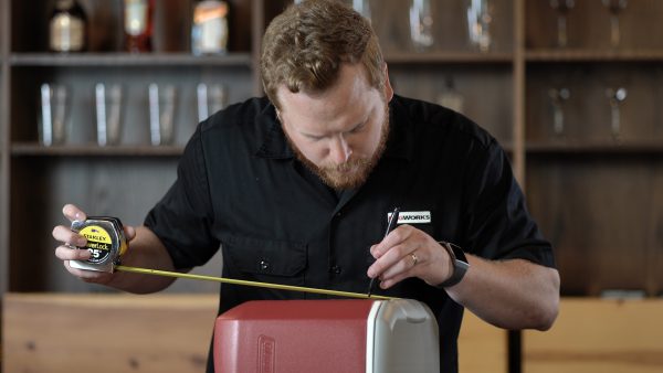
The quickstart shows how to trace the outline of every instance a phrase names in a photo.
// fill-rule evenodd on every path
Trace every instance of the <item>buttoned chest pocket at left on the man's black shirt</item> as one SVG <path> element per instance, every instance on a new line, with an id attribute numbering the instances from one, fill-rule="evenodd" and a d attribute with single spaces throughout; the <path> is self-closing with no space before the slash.
<path id="1" fill-rule="evenodd" d="M 228 237 L 223 244 L 225 265 L 231 266 L 230 270 L 255 280 L 270 280 L 273 277 L 303 279 L 306 247 L 303 243 L 239 235 Z"/>

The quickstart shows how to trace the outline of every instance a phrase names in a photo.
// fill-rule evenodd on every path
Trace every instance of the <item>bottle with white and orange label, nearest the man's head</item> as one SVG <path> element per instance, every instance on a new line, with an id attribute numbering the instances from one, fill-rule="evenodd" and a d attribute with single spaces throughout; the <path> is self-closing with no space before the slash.
<path id="1" fill-rule="evenodd" d="M 196 55 L 228 51 L 228 2 L 202 0 L 193 8 L 191 52 Z"/>

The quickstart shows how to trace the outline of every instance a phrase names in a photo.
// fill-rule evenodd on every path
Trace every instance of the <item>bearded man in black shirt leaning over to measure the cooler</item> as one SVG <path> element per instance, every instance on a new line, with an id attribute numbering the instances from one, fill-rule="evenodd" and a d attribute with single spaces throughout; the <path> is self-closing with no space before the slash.
<path id="1" fill-rule="evenodd" d="M 394 95 L 370 24 L 337 1 L 288 8 L 263 43 L 269 98 L 200 124 L 178 180 L 144 226 L 127 227 L 124 264 L 186 271 L 221 245 L 224 277 L 357 292 L 377 278 L 376 292 L 432 309 L 449 372 L 457 371 L 464 308 L 502 328 L 550 328 L 559 300 L 552 249 L 488 134 Z M 382 239 L 397 206 L 399 225 Z M 85 217 L 73 205 L 64 215 Z M 85 243 L 66 226 L 53 236 Z M 67 245 L 55 254 L 74 276 L 126 291 L 172 281 L 72 268 L 69 260 L 90 254 Z M 223 286 L 219 311 L 294 298 L 320 296 Z"/>

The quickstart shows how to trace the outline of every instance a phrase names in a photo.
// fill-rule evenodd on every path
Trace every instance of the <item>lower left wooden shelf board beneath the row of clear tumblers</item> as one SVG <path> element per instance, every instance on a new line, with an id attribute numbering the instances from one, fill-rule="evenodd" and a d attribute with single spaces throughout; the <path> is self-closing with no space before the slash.
<path id="1" fill-rule="evenodd" d="M 51 146 L 44 147 L 34 142 L 13 143 L 12 157 L 179 157 L 181 146 L 108 146 L 96 145 Z"/>

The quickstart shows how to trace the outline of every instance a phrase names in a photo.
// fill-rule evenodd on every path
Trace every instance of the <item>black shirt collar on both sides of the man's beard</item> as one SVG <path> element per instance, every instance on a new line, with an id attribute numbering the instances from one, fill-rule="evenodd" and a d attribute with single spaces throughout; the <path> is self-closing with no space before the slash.
<path id="1" fill-rule="evenodd" d="M 295 157 L 283 132 L 281 122 L 276 119 L 274 105 L 266 105 L 256 119 L 265 128 L 263 136 L 257 140 L 260 145 L 255 152 L 257 157 L 266 159 L 291 159 Z M 391 130 L 382 157 L 412 160 L 414 154 L 414 136 L 412 131 L 414 126 L 410 122 L 407 109 L 402 106 L 399 96 L 396 95 L 389 103 L 389 124 Z"/>

